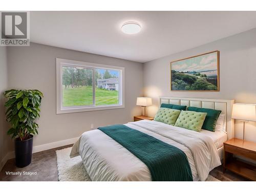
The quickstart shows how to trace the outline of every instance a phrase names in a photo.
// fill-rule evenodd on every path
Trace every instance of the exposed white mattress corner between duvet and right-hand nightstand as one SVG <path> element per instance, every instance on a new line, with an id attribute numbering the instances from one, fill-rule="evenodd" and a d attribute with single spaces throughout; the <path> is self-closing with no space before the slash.
<path id="1" fill-rule="evenodd" d="M 201 134 L 210 137 L 216 146 L 217 149 L 223 146 L 223 143 L 227 140 L 226 132 L 210 132 L 207 130 L 201 130 Z"/>

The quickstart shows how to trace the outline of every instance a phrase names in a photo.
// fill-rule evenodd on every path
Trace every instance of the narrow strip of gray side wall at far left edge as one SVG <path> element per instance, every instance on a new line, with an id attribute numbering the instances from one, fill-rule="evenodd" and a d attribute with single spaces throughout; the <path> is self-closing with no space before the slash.
<path id="1" fill-rule="evenodd" d="M 2 166 L 1 160 L 9 151 L 10 138 L 6 135 L 7 123 L 5 118 L 5 98 L 4 91 L 8 88 L 7 77 L 7 48 L 0 47 L 0 169 Z"/>

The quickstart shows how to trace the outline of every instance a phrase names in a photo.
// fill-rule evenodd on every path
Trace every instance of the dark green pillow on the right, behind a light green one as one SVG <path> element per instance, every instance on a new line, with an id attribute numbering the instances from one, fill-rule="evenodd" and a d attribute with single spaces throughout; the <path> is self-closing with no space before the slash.
<path id="1" fill-rule="evenodd" d="M 217 123 L 217 119 L 221 113 L 220 110 L 213 110 L 213 109 L 207 109 L 207 108 L 196 108 L 195 106 L 189 106 L 187 108 L 187 111 L 196 111 L 196 112 L 202 112 L 207 113 L 204 124 L 202 126 L 202 129 L 208 130 L 211 132 L 215 132 L 215 126 Z"/>

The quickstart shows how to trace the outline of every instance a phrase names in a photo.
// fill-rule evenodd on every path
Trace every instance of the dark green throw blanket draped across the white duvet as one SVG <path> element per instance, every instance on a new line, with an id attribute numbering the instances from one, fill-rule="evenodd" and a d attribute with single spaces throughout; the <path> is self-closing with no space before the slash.
<path id="1" fill-rule="evenodd" d="M 145 163 L 152 181 L 193 181 L 187 157 L 179 148 L 122 124 L 98 129 Z"/>

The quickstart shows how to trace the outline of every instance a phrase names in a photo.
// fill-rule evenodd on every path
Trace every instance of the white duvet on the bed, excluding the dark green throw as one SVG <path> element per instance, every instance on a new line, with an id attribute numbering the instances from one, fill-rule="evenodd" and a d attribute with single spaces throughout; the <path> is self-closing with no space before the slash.
<path id="1" fill-rule="evenodd" d="M 199 132 L 150 120 L 124 125 L 182 150 L 187 156 L 194 181 L 205 181 L 210 170 L 221 165 L 214 141 Z M 70 157 L 77 155 L 81 156 L 92 181 L 152 180 L 150 170 L 140 159 L 100 130 L 81 135 Z"/>

